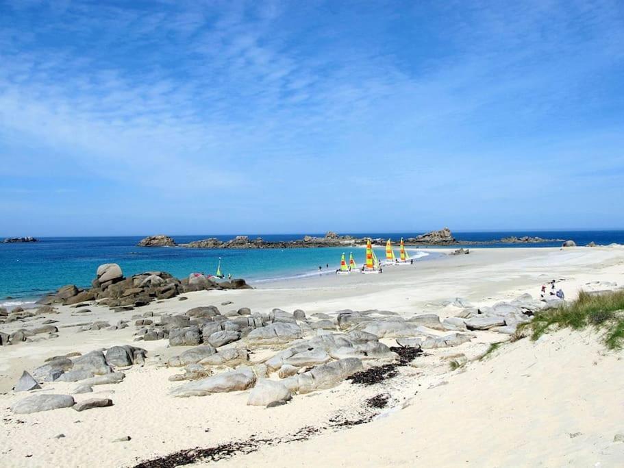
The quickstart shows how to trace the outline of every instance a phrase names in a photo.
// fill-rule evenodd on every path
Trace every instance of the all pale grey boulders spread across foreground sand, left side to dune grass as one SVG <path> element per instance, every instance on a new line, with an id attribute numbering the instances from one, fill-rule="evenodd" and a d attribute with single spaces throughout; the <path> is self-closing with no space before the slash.
<path id="1" fill-rule="evenodd" d="M 216 306 L 192 308 L 184 315 L 160 315 L 158 323 L 151 312 L 134 319 L 137 339 L 168 338 L 171 346 L 190 347 L 167 361 L 169 367 L 183 371 L 169 380 L 186 381 L 171 390 L 172 396 L 250 390 L 247 404 L 271 407 L 293 395 L 330 389 L 365 369 L 400 361 L 397 348 L 391 349 L 382 338 L 394 338 L 401 347 L 414 349 L 460 346 L 471 341 L 475 331 L 513 334 L 537 310 L 560 304 L 564 304 L 562 299 L 536 300 L 528 294 L 478 308 L 455 299 L 447 305 L 462 310 L 443 320 L 435 314 L 405 319 L 388 310 L 340 310 L 308 317 L 303 310 L 290 313 L 275 308 L 262 314 L 249 308 L 221 312 Z M 266 347 L 277 350 L 252 362 L 251 349 Z M 45 382 L 60 381 L 78 382 L 74 394 L 90 392 L 94 385 L 121 382 L 124 374 L 118 368 L 142 365 L 146 354 L 142 348 L 114 346 L 84 356 L 55 356 L 32 375 L 25 372 L 14 391 L 34 391 Z M 14 404 L 12 410 L 23 413 L 70 406 L 82 410 L 110 404 L 88 400 L 77 406 L 71 395 L 33 395 Z"/>

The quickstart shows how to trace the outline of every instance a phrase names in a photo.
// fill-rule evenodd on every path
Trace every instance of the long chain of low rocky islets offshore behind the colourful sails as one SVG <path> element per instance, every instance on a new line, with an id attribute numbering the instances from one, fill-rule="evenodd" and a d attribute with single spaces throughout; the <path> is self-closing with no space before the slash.
<path id="1" fill-rule="evenodd" d="M 373 245 L 385 245 L 386 238 L 369 238 L 341 236 L 336 232 L 329 231 L 323 237 L 303 236 L 295 241 L 264 241 L 262 237 L 255 239 L 249 236 L 236 236 L 229 241 L 221 241 L 216 237 L 192 241 L 190 243 L 178 244 L 171 236 L 158 234 L 147 236 L 137 244 L 139 247 L 186 247 L 188 249 L 297 249 L 308 247 L 357 247 L 365 245 L 366 241 L 371 241 Z M 393 239 L 398 241 L 398 239 Z M 404 239 L 405 245 L 490 245 L 497 243 L 508 244 L 532 244 L 545 242 L 562 242 L 564 239 L 547 239 L 531 236 L 509 236 L 492 241 L 461 241 L 453 236 L 448 227 L 438 231 L 427 232 L 415 237 Z"/>

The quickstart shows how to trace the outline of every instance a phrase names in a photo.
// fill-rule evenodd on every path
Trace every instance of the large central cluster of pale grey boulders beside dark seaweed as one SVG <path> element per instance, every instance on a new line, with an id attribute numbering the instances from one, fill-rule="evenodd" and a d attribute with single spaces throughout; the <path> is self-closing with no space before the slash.
<path id="1" fill-rule="evenodd" d="M 184 368 L 184 373 L 173 375 L 170 380 L 192 380 L 173 389 L 171 394 L 175 397 L 251 389 L 247 404 L 275 406 L 297 393 L 332 388 L 367 367 L 397 361 L 399 356 L 381 343 L 380 338 L 397 338 L 403 346 L 433 349 L 457 346 L 474 336 L 457 332 L 455 327 L 450 334 L 432 333 L 432 328 L 447 330 L 437 315 L 416 315 L 406 320 L 386 310 L 340 310 L 332 319 L 323 313 L 306 317 L 303 310 L 289 313 L 273 309 L 266 315 L 255 312 L 248 315 L 247 309 L 242 315 L 232 311 L 220 318 L 220 315 L 213 315 L 215 309 L 209 306 L 186 312 L 187 317 L 203 315 L 212 321 L 197 323 L 192 329 L 190 325 L 180 332 L 185 339 L 192 337 L 193 343 L 199 342 L 199 334 L 205 344 L 169 360 L 170 367 Z M 249 325 L 252 320 L 253 325 Z M 239 328 L 239 324 L 244 326 Z M 226 342 L 221 341 L 225 336 L 223 332 L 229 328 L 238 328 L 236 335 L 231 334 Z M 316 336 L 304 339 L 306 334 Z M 242 346 L 234 343 L 238 340 Z M 286 349 L 269 358 L 249 362 L 249 348 L 281 347 L 288 343 Z M 235 369 L 211 375 L 215 369 L 223 367 Z M 279 380 L 275 380 L 275 376 Z"/>

